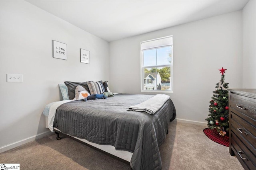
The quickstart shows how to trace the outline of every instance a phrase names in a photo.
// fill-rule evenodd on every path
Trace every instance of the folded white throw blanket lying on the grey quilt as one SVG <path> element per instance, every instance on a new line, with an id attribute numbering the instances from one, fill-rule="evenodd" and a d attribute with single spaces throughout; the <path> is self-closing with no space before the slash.
<path id="1" fill-rule="evenodd" d="M 156 113 L 156 111 L 158 111 L 169 98 L 170 96 L 166 94 L 157 94 L 145 102 L 131 106 L 128 109 L 132 111 L 145 111 L 152 115 Z"/>

